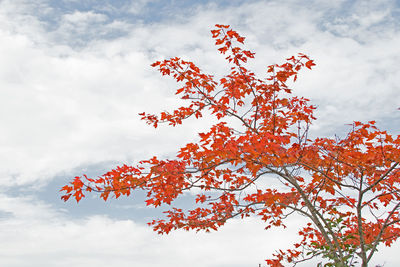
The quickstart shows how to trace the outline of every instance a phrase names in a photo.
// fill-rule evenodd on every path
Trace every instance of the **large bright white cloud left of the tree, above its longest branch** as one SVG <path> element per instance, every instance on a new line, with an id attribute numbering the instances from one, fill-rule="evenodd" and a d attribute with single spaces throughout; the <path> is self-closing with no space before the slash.
<path id="1" fill-rule="evenodd" d="M 171 153 L 182 140 L 182 127 L 157 133 L 137 114 L 176 105 L 168 91 L 175 83 L 161 79 L 149 66 L 155 57 L 180 50 L 172 42 L 176 36 L 189 34 L 183 27 L 177 27 L 172 37 L 164 27 L 137 27 L 125 38 L 95 40 L 74 51 L 53 43 L 53 33 L 36 36 L 50 38 L 36 42 L 3 31 L 0 46 L 9 63 L 0 66 L 0 117 L 6 125 L 0 139 L 5 163 L 1 183 L 29 184 L 85 164 Z M 191 36 L 200 39 L 195 32 Z M 150 140 L 155 134 L 168 135 L 172 141 L 161 146 Z"/>

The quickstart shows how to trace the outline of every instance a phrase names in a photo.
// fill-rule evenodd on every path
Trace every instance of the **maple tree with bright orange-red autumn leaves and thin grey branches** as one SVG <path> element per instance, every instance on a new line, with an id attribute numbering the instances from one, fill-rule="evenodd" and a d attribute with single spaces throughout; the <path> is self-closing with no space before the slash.
<path id="1" fill-rule="evenodd" d="M 241 48 L 244 37 L 230 26 L 211 31 L 232 66 L 218 81 L 180 58 L 157 61 L 162 75 L 183 84 L 176 94 L 188 102 L 160 115 L 141 113 L 148 124 L 182 124 L 203 114 L 217 119 L 198 141 L 175 159 L 153 157 L 137 166 L 122 165 L 97 178 L 75 177 L 62 199 L 77 202 L 86 192 L 105 201 L 147 192 L 146 204 L 172 204 L 195 190 L 191 210 L 172 207 L 149 223 L 160 234 L 174 229 L 217 230 L 231 218 L 259 216 L 285 227 L 292 213 L 307 220 L 292 249 L 277 251 L 270 266 L 321 257 L 325 266 L 367 266 L 377 246 L 399 237 L 400 136 L 379 130 L 374 121 L 355 121 L 344 138 L 310 138 L 315 107 L 294 96 L 289 83 L 315 64 L 298 54 L 267 67 L 259 79 L 245 67 L 254 53 Z"/>

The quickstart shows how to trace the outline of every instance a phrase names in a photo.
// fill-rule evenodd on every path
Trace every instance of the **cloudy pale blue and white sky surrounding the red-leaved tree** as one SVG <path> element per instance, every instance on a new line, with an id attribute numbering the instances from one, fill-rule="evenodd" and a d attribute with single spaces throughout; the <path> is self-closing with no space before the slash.
<path id="1" fill-rule="evenodd" d="M 60 200 L 74 176 L 173 156 L 207 127 L 155 130 L 138 113 L 180 103 L 156 60 L 228 71 L 215 24 L 246 37 L 260 77 L 298 52 L 315 60 L 295 84 L 318 106 L 313 135 L 343 134 L 355 120 L 399 134 L 398 1 L 0 0 L 0 266 L 258 266 L 296 240 L 296 217 L 287 230 L 249 218 L 159 236 L 146 222 L 162 209 L 146 208 L 143 192 Z M 380 248 L 373 263 L 400 266 L 399 249 Z"/>

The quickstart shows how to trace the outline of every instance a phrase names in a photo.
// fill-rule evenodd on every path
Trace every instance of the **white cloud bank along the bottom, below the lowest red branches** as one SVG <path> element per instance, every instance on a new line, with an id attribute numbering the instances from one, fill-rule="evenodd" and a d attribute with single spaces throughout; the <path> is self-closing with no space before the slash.
<path id="1" fill-rule="evenodd" d="M 271 240 L 271 233 L 263 232 L 263 224 L 255 219 L 245 224 L 233 220 L 209 234 L 176 231 L 160 236 L 130 220 L 69 220 L 32 198 L 1 195 L 0 203 L 0 211 L 12 213 L 0 220 L 0 264 L 9 267 L 28 262 L 42 267 L 256 266 L 291 239 L 276 239 L 283 233 L 278 230 L 271 231 Z"/>

